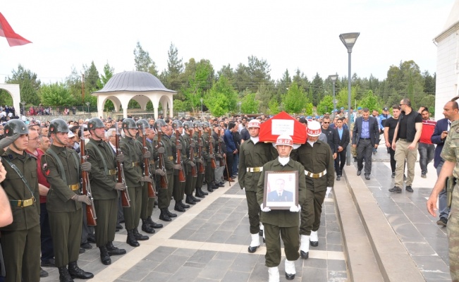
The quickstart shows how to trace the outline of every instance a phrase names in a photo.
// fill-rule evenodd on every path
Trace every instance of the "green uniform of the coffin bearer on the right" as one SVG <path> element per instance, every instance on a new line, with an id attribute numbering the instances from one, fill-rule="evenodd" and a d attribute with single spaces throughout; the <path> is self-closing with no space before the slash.
<path id="1" fill-rule="evenodd" d="M 333 154 L 330 146 L 317 140 L 314 147 L 306 142 L 298 149 L 293 150 L 292 158 L 298 160 L 305 171 L 310 173 L 322 173 L 326 175 L 319 178 L 306 177 L 307 201 L 301 209 L 301 235 L 310 235 L 311 231 L 319 230 L 320 215 L 322 214 L 322 204 L 325 198 L 327 187 L 333 187 L 335 168 L 333 167 Z"/>

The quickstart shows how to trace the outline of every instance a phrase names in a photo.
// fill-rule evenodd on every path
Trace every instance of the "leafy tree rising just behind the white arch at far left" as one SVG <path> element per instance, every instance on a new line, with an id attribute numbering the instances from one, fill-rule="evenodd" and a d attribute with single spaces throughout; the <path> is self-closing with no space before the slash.
<path id="1" fill-rule="evenodd" d="M 6 83 L 18 84 L 20 89 L 20 100 L 38 106 L 40 104 L 39 87 L 40 80 L 37 79 L 37 73 L 26 70 L 19 64 L 18 71 L 13 70 L 11 78 L 8 76 Z"/>

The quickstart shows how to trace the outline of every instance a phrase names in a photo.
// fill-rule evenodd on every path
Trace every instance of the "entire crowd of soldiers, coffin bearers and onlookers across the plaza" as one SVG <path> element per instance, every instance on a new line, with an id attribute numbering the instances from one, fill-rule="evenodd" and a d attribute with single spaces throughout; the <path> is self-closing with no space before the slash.
<path id="1" fill-rule="evenodd" d="M 186 212 L 238 177 L 250 223 L 247 251 L 257 252 L 261 237 L 269 281 L 279 281 L 281 237 L 285 276 L 291 280 L 295 260 L 308 259 L 310 247 L 319 245 L 322 204 L 343 176 L 349 144 L 357 175 L 363 170 L 369 180 L 372 154 L 384 135 L 395 178 L 391 192 L 402 192 L 403 184 L 413 192 L 417 149 L 422 178 L 432 159 L 437 173 L 443 164 L 451 168 L 448 161 L 453 159 L 440 153 L 459 119 L 457 102 L 448 102 L 444 121 L 437 122 L 425 107 L 413 111 L 409 99 L 391 109 L 392 115 L 388 108 L 370 115 L 369 109 L 358 107 L 357 112 L 296 117 L 305 126 L 304 144 L 294 144 L 290 135 L 260 142 L 267 116 L 1 123 L 0 243 L 8 258 L 1 261 L 1 276 L 5 281 L 39 281 L 47 276 L 42 266 L 51 266 L 59 269 L 60 281 L 92 278 L 78 266 L 78 255 L 91 249 L 91 243 L 99 248 L 102 264 L 109 265 L 111 256 L 126 254 L 114 245 L 116 232 L 126 228 L 126 243 L 139 247 L 149 240 L 139 226 L 148 234 L 163 227 L 152 219 L 154 207 L 160 210 L 157 220 L 172 221 L 176 212 Z M 298 182 L 291 188 L 276 178 L 267 190 L 267 171 L 294 171 Z M 437 223 L 446 226 L 450 210 L 446 192 L 441 193 Z M 275 208 L 283 202 L 288 207 Z"/>

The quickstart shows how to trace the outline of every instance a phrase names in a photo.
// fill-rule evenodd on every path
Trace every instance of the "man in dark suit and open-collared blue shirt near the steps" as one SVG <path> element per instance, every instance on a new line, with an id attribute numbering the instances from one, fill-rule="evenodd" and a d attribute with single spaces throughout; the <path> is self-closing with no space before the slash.
<path id="1" fill-rule="evenodd" d="M 360 176 L 365 159 L 365 179 L 372 173 L 372 152 L 378 147 L 379 125 L 376 118 L 369 116 L 369 109 L 364 108 L 362 116 L 357 118 L 353 129 L 353 147 L 357 148 L 357 176 Z"/>

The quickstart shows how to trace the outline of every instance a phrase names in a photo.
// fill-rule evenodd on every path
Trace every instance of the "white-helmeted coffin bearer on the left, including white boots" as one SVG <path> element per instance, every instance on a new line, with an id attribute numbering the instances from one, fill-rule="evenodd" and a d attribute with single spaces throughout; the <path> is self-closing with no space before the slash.
<path id="1" fill-rule="evenodd" d="M 257 202 L 257 185 L 262 176 L 263 165 L 276 159 L 276 149 L 270 143 L 259 142 L 259 121 L 254 119 L 247 128 L 250 139 L 240 145 L 239 152 L 239 185 L 245 191 L 250 222 L 249 252 L 255 252 L 259 247 L 259 235 L 263 235 L 259 222 L 259 204 Z"/>

